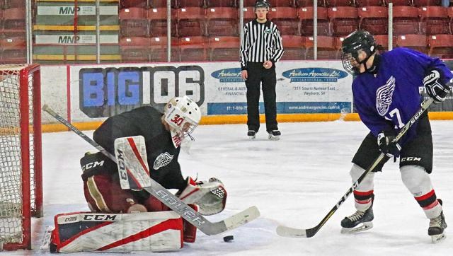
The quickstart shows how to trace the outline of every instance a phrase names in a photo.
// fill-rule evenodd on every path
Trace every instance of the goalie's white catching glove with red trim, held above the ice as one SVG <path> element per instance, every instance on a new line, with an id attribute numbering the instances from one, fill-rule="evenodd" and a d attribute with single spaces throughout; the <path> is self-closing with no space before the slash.
<path id="1" fill-rule="evenodd" d="M 217 178 L 208 181 L 196 182 L 188 177 L 188 184 L 184 190 L 176 193 L 186 204 L 197 204 L 202 215 L 213 215 L 225 209 L 226 190 L 224 184 Z"/>

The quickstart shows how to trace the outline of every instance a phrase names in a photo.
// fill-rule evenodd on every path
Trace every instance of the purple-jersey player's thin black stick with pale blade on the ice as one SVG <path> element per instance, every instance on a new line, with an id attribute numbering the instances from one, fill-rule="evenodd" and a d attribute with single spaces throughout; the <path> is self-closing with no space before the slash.
<path id="1" fill-rule="evenodd" d="M 423 112 L 425 112 L 425 110 L 428 109 L 428 107 L 431 105 L 432 101 L 433 101 L 432 98 L 429 98 L 428 100 L 423 101 L 423 103 L 421 104 L 420 110 L 418 110 L 418 112 L 416 112 L 415 115 L 413 115 L 411 120 L 409 120 L 404 125 L 404 127 L 401 129 L 401 131 L 398 133 L 398 135 L 395 137 L 395 139 L 392 142 L 398 141 L 399 139 L 401 139 L 401 137 L 404 134 L 406 134 L 406 132 L 412 126 L 412 124 L 414 124 L 418 120 L 418 118 L 420 118 L 420 116 L 423 114 Z M 337 209 L 340 208 L 340 205 L 346 201 L 346 199 L 349 197 L 349 195 L 352 194 L 354 189 L 360 184 L 360 182 L 362 182 L 362 180 L 365 178 L 365 176 L 369 172 L 374 170 L 374 168 L 376 168 L 376 166 L 382 161 L 382 159 L 384 159 L 384 156 L 385 156 L 384 153 L 379 154 L 379 156 L 376 158 L 376 160 L 374 160 L 374 163 L 372 163 L 372 165 L 369 166 L 369 168 L 367 170 L 365 170 L 365 172 L 362 173 L 362 175 L 360 175 L 360 177 L 357 179 L 357 181 L 355 181 L 352 184 L 352 187 L 349 188 L 348 192 L 346 192 L 346 194 L 343 194 L 343 197 L 341 197 L 340 201 L 338 201 L 337 204 L 335 206 L 333 206 L 331 211 L 328 212 L 328 214 L 324 217 L 324 219 L 321 220 L 321 222 L 317 226 L 315 226 L 314 228 L 308 228 L 308 229 L 290 228 L 287 226 L 277 226 L 277 234 L 281 235 L 281 236 L 285 236 L 287 238 L 311 238 L 312 236 L 316 235 L 316 233 L 318 233 L 319 229 L 321 229 L 321 227 L 324 226 L 324 224 L 328 221 L 328 219 L 331 218 L 331 216 L 337 211 Z"/>

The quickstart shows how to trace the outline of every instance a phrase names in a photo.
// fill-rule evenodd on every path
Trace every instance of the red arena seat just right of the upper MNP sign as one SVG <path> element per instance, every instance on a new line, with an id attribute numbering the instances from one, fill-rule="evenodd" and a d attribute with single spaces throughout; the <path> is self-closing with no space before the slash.
<path id="1" fill-rule="evenodd" d="M 120 9 L 120 30 L 125 37 L 146 37 L 149 35 L 147 9 L 125 8 Z"/>

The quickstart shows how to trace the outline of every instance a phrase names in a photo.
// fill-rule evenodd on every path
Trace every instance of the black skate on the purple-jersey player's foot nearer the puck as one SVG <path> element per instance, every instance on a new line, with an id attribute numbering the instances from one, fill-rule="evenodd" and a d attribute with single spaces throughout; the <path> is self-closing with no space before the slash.
<path id="1" fill-rule="evenodd" d="M 373 227 L 371 222 L 374 219 L 373 215 L 373 203 L 374 203 L 374 194 L 371 198 L 371 206 L 366 211 L 355 211 L 355 214 L 345 217 L 341 221 L 341 233 L 357 233 L 361 231 L 367 231 Z M 361 224 L 361 225 L 360 225 Z"/>

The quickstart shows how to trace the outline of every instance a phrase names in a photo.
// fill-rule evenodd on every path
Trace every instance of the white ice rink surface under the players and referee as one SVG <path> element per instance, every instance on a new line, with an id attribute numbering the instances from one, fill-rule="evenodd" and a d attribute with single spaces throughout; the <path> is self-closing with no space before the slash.
<path id="1" fill-rule="evenodd" d="M 453 255 L 453 122 L 432 122 L 431 179 L 450 225 L 447 239 L 437 244 L 431 243 L 429 220 L 393 162 L 375 176 L 371 230 L 340 234 L 341 219 L 355 211 L 350 196 L 313 238 L 279 237 L 278 223 L 311 228 L 338 202 L 351 186 L 350 160 L 367 134 L 361 122 L 342 121 L 282 123 L 280 130 L 280 141 L 269 141 L 264 125 L 255 141 L 246 137 L 245 124 L 203 125 L 195 130 L 190 154 L 180 153 L 183 175 L 198 175 L 199 180 L 217 177 L 228 191 L 225 211 L 208 219 L 224 219 L 252 205 L 258 206 L 261 217 L 222 235 L 210 237 L 199 231 L 196 243 L 159 255 Z M 33 221 L 35 249 L 13 255 L 50 255 L 38 248 L 45 227 L 53 226 L 53 216 L 88 210 L 79 159 L 96 150 L 72 132 L 42 136 L 45 216 Z M 224 235 L 234 235 L 234 241 L 224 243 Z"/>

